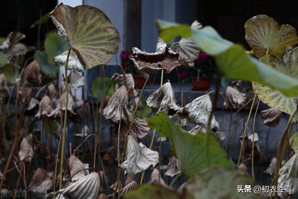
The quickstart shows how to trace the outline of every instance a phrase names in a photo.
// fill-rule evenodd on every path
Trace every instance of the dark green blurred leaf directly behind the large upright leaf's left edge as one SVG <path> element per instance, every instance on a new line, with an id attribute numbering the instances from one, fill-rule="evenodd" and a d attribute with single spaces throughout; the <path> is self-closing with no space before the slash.
<path id="1" fill-rule="evenodd" d="M 65 39 L 58 33 L 49 34 L 44 40 L 44 47 L 46 49 L 49 64 L 54 64 L 54 58 L 69 48 Z"/>

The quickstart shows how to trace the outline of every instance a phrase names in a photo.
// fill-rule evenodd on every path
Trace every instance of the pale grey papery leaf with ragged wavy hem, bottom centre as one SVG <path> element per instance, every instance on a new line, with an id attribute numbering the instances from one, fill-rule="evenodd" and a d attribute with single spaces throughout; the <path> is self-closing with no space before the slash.
<path id="1" fill-rule="evenodd" d="M 158 152 L 148 149 L 144 144 L 137 143 L 128 135 L 125 161 L 119 166 L 124 169 L 124 175 L 136 175 L 155 166 L 159 162 Z"/>

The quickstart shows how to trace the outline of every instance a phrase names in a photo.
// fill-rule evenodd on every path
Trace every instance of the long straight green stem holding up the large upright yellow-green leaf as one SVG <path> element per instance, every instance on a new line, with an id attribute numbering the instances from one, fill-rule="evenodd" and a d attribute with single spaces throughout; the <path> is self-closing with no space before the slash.
<path id="1" fill-rule="evenodd" d="M 69 59 L 71 48 L 69 47 L 68 54 L 65 62 L 65 84 L 66 84 L 66 99 L 65 99 L 65 112 L 64 112 L 64 127 L 63 127 L 63 137 L 62 137 L 62 146 L 61 146 L 61 160 L 60 160 L 60 182 L 59 189 L 62 189 L 62 170 L 63 170 L 63 156 L 64 156 L 64 143 L 65 143 L 65 134 L 66 134 L 66 120 L 67 120 L 67 108 L 68 108 L 68 80 L 67 80 L 67 64 Z M 61 107 L 60 107 L 61 108 Z"/>

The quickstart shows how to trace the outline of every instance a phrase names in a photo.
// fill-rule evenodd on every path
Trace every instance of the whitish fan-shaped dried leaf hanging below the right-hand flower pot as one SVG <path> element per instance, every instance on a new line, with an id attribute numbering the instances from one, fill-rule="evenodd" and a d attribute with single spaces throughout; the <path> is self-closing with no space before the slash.
<path id="1" fill-rule="evenodd" d="M 206 128 L 209 115 L 212 113 L 212 102 L 209 94 L 194 99 L 191 103 L 181 108 L 177 113 L 181 118 L 186 118 L 191 123 Z M 219 131 L 219 125 L 215 120 L 213 113 L 209 129 L 212 131 Z"/>

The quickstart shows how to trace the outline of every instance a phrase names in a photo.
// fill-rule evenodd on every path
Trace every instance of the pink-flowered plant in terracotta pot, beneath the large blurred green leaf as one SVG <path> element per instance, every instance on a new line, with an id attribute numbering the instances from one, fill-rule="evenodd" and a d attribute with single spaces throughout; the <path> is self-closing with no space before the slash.
<path id="1" fill-rule="evenodd" d="M 216 64 L 213 56 L 200 53 L 194 67 L 190 68 L 192 90 L 205 91 L 210 88 L 211 79 L 216 78 Z"/>

